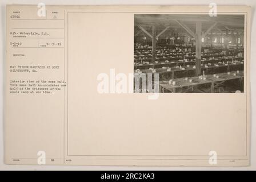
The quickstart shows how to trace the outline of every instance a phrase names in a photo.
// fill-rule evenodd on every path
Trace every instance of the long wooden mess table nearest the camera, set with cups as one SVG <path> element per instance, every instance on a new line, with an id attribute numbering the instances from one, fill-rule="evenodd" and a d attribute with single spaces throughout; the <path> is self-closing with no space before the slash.
<path id="1" fill-rule="evenodd" d="M 233 75 L 235 73 L 235 76 Z M 218 73 L 215 74 L 217 77 L 214 77 L 214 75 L 206 75 L 206 79 L 203 80 L 199 77 L 189 77 L 187 80 L 185 78 L 177 78 L 172 81 L 175 81 L 175 85 L 170 84 L 169 81 L 159 81 L 159 92 L 164 93 L 166 90 L 169 92 L 187 92 L 189 90 L 196 90 L 197 92 L 203 92 L 202 90 L 197 89 L 197 86 L 199 85 L 205 85 L 210 84 L 210 89 L 208 89 L 206 92 L 214 93 L 214 88 L 218 85 L 223 84 L 223 82 L 227 80 L 235 80 L 238 79 L 241 86 L 243 85 L 243 71 L 233 71 L 228 73 Z M 191 82 L 189 80 L 192 80 Z"/>

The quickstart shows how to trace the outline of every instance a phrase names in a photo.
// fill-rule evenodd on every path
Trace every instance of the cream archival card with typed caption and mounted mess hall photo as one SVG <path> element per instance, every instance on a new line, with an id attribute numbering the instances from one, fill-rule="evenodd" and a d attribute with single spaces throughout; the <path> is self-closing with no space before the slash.
<path id="1" fill-rule="evenodd" d="M 6 6 L 5 163 L 250 165 L 249 6 Z"/>

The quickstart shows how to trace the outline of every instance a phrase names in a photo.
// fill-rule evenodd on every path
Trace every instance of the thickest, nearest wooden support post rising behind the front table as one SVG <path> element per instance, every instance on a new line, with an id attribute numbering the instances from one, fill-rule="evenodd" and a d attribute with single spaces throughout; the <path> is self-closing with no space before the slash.
<path id="1" fill-rule="evenodd" d="M 202 22 L 195 23 L 195 76 L 201 75 Z"/>

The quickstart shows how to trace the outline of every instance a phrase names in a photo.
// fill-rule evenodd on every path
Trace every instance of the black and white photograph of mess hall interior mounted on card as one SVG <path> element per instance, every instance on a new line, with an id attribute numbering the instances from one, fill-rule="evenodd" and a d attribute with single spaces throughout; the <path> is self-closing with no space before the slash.
<path id="1" fill-rule="evenodd" d="M 134 92 L 243 93 L 244 31 L 239 14 L 135 14 Z"/>

